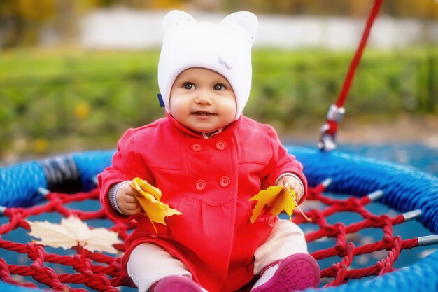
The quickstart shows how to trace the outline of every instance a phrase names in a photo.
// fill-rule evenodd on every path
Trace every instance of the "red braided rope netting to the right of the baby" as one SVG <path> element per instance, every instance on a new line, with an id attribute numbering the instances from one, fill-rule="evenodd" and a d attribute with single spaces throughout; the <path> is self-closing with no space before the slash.
<path id="1" fill-rule="evenodd" d="M 323 195 L 324 186 L 320 184 L 316 188 L 309 191 L 307 200 L 316 200 L 322 202 L 328 207 L 322 210 L 311 209 L 306 212 L 306 216 L 312 218 L 313 223 L 318 224 L 319 230 L 308 232 L 306 234 L 307 242 L 314 242 L 323 237 L 331 237 L 335 239 L 333 247 L 322 249 L 311 253 L 311 256 L 316 260 L 339 256 L 342 260 L 332 264 L 321 271 L 321 277 L 334 278 L 333 281 L 326 286 L 338 286 L 345 283 L 349 279 L 360 279 L 362 277 L 376 276 L 393 271 L 393 264 L 400 255 L 402 249 L 411 249 L 418 246 L 418 239 L 402 240 L 401 237 L 393 236 L 393 225 L 404 223 L 402 215 L 390 218 L 387 215 L 376 216 L 369 212 L 365 207 L 371 201 L 369 197 L 348 197 L 346 200 L 335 200 Z M 344 223 L 335 223 L 330 225 L 326 218 L 332 214 L 342 211 L 355 212 L 362 216 L 363 220 L 350 225 Z M 306 223 L 304 216 L 296 214 L 295 223 Z M 382 240 L 372 244 L 365 244 L 356 247 L 353 243 L 347 241 L 347 235 L 354 234 L 366 228 L 380 228 L 383 230 Z M 348 270 L 355 256 L 373 253 L 375 251 L 388 251 L 388 256 L 376 264 L 362 269 Z"/>

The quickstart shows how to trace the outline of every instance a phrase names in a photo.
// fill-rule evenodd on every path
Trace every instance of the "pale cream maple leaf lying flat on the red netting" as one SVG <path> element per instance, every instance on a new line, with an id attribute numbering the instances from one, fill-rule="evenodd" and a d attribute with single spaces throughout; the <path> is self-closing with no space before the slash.
<path id="1" fill-rule="evenodd" d="M 71 249 L 73 246 L 82 246 L 88 251 L 106 251 L 108 253 L 118 253 L 113 244 L 122 243 L 118 239 L 118 233 L 106 228 L 90 229 L 75 216 L 62 218 L 60 224 L 48 221 L 27 221 L 29 223 L 32 237 L 40 238 L 34 240 L 36 244 L 52 247 L 62 247 Z"/>

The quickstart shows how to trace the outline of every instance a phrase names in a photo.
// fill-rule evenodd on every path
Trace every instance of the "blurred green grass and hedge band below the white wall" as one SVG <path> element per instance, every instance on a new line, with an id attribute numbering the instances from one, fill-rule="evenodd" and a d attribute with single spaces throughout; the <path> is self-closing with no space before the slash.
<path id="1" fill-rule="evenodd" d="M 158 51 L 8 51 L 0 62 L 0 158 L 108 148 L 128 127 L 164 116 Z M 323 123 L 353 52 L 255 50 L 246 116 L 281 132 Z M 438 113 L 438 50 L 365 53 L 348 116 Z"/>

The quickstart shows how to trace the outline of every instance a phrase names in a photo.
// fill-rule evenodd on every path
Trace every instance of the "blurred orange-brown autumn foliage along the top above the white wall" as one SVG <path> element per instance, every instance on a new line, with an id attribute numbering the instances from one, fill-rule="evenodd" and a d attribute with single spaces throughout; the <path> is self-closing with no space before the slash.
<path id="1" fill-rule="evenodd" d="M 365 17 L 372 0 L 1 0 L 0 48 L 32 46 L 59 36 L 59 43 L 70 44 L 76 39 L 78 21 L 97 8 L 126 7 L 132 9 L 208 10 L 288 15 L 342 15 Z M 427 22 L 438 19 L 436 0 L 385 0 L 381 15 L 396 18 L 421 18 Z"/>

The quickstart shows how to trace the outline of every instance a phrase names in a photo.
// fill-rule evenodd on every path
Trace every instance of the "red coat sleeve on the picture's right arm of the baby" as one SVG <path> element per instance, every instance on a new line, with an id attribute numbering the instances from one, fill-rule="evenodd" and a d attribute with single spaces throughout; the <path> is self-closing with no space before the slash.
<path id="1" fill-rule="evenodd" d="M 288 153 L 286 149 L 281 144 L 280 139 L 273 127 L 270 125 L 264 125 L 267 131 L 267 136 L 271 142 L 272 147 L 272 158 L 267 166 L 267 173 L 265 179 L 262 181 L 262 188 L 268 188 L 269 186 L 274 186 L 276 179 L 281 174 L 285 172 L 290 172 L 298 176 L 302 181 L 304 186 L 304 195 L 299 203 L 304 202 L 307 196 L 307 179 L 303 173 L 303 165 L 299 162 L 294 155 Z"/>

